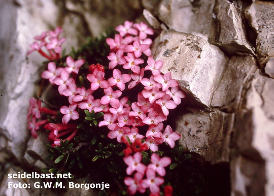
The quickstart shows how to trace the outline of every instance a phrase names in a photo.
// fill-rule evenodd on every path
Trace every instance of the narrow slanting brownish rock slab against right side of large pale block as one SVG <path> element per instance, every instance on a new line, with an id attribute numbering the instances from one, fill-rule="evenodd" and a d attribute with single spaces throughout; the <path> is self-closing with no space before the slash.
<path id="1" fill-rule="evenodd" d="M 235 111 L 241 100 L 243 86 L 256 69 L 256 60 L 253 56 L 233 56 L 229 59 L 214 92 L 211 106 Z"/>

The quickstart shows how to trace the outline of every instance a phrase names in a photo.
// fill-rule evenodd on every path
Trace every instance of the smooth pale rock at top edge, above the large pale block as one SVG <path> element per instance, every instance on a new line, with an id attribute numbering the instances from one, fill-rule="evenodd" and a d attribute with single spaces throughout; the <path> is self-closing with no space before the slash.
<path id="1" fill-rule="evenodd" d="M 217 35 L 214 0 L 162 0 L 159 18 L 170 28 L 193 35 L 203 35 L 214 41 Z"/>

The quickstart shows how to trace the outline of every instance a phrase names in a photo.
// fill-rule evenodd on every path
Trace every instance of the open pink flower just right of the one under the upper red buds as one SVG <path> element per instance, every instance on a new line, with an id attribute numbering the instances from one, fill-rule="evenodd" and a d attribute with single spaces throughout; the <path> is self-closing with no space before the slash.
<path id="1" fill-rule="evenodd" d="M 120 70 L 113 70 L 113 78 L 109 78 L 108 82 L 111 86 L 117 85 L 120 90 L 125 89 L 125 83 L 131 79 L 129 74 L 121 74 Z"/>

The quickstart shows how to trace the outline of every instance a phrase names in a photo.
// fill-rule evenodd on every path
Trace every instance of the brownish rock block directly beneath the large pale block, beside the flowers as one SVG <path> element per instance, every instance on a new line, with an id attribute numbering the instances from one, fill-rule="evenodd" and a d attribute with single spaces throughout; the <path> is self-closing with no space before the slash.
<path id="1" fill-rule="evenodd" d="M 229 141 L 233 115 L 190 109 L 176 119 L 184 150 L 197 152 L 212 164 L 229 160 Z M 230 124 L 231 123 L 231 124 Z"/>

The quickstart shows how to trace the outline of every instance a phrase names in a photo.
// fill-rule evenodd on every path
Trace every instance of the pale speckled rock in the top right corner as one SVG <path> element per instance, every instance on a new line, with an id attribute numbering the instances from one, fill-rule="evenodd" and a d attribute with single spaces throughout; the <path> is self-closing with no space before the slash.
<path id="1" fill-rule="evenodd" d="M 274 56 L 274 3 L 253 1 L 246 9 L 249 25 L 258 34 L 256 52 L 260 56 Z"/>

